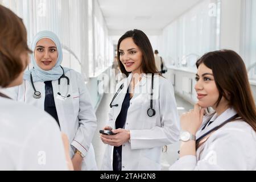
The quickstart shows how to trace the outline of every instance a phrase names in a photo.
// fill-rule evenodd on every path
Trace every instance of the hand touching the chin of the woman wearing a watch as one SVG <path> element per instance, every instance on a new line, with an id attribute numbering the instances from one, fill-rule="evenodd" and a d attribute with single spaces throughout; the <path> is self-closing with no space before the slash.
<path id="1" fill-rule="evenodd" d="M 199 104 L 195 104 L 194 109 L 182 114 L 180 117 L 181 130 L 196 135 L 203 122 L 204 110 L 205 108 L 200 109 Z"/>

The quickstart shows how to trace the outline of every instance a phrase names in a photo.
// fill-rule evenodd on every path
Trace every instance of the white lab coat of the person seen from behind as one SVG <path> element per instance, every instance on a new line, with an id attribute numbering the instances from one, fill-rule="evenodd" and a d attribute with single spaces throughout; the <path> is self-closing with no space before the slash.
<path id="1" fill-rule="evenodd" d="M 0 170 L 68 170 L 56 121 L 42 110 L 0 97 Z"/>

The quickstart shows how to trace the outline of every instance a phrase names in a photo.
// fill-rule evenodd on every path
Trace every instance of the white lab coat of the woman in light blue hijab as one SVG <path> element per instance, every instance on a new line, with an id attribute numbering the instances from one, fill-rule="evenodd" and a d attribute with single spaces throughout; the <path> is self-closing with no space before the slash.
<path id="1" fill-rule="evenodd" d="M 82 162 L 82 170 L 97 170 L 92 146 L 92 138 L 97 127 L 97 119 L 90 102 L 90 95 L 80 73 L 71 69 L 65 73 L 65 76 L 69 77 L 70 86 L 68 94 L 71 94 L 71 97 L 65 100 L 61 99 L 57 93 L 60 92 L 62 95 L 67 93 L 67 79 L 61 79 L 60 89 L 58 80 L 52 81 L 60 129 L 68 135 L 69 142 L 71 142 L 71 158 L 75 153 L 75 148 L 77 148 L 85 156 Z M 34 89 L 32 88 L 31 82 L 26 80 L 23 81 L 22 85 L 8 89 L 10 92 L 7 90 L 5 93 L 15 100 L 34 105 L 44 110 L 45 84 L 44 82 L 34 82 L 34 85 L 35 89 L 41 93 L 42 97 L 39 99 L 33 97 Z"/>

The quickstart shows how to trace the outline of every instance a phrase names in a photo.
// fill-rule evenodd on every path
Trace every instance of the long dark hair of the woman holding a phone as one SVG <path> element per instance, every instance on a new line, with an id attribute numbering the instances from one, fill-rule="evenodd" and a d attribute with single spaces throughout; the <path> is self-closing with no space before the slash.
<path id="1" fill-rule="evenodd" d="M 127 31 L 121 38 L 118 40 L 117 44 L 117 60 L 118 65 L 122 73 L 126 76 L 129 75 L 129 72 L 126 71 L 122 62 L 120 61 L 120 52 L 119 47 L 121 42 L 126 38 L 133 38 L 134 43 L 141 49 L 142 52 L 142 72 L 143 73 L 157 73 L 160 74 L 155 65 L 154 52 L 150 43 L 150 40 L 147 38 L 147 35 L 144 34 L 141 30 L 130 30 Z"/>

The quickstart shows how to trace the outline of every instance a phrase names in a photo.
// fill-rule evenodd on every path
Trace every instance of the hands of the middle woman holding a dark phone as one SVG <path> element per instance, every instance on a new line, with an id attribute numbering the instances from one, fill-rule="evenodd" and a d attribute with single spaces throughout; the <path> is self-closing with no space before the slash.
<path id="1" fill-rule="evenodd" d="M 130 139 L 130 131 L 127 131 L 125 129 L 112 130 L 112 132 L 114 133 L 114 135 L 100 135 L 103 143 L 110 144 L 110 146 L 118 147 Z"/>

